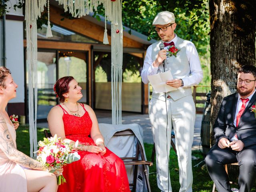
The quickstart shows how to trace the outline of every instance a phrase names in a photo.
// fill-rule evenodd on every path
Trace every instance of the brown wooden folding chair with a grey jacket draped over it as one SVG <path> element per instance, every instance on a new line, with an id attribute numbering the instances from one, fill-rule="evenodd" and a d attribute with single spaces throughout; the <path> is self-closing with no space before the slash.
<path id="1" fill-rule="evenodd" d="M 135 136 L 134 132 L 130 129 L 116 132 L 113 137 L 117 136 Z M 135 136 L 136 137 L 136 136 Z M 141 155 L 141 160 L 139 160 L 139 154 Z M 135 157 L 121 157 L 121 159 L 124 161 L 124 165 L 133 165 L 134 166 L 134 176 L 133 176 L 133 183 L 130 184 L 132 186 L 132 192 L 136 192 L 136 181 L 137 181 L 137 173 L 138 173 L 138 165 L 142 165 L 142 169 L 144 171 L 144 176 L 146 178 L 146 185 L 148 192 L 151 192 L 150 184 L 149 184 L 149 176 L 148 176 L 148 170 L 146 166 L 152 166 L 153 162 L 146 161 L 146 158 L 144 156 L 144 150 L 142 148 L 142 145 L 140 142 L 137 142 L 136 145 L 136 156 Z"/>

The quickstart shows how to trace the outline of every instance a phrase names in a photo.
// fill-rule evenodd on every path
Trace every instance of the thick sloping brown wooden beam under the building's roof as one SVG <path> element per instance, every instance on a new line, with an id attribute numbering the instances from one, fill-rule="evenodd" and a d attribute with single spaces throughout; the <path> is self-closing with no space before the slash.
<path id="1" fill-rule="evenodd" d="M 64 28 L 70 29 L 74 32 L 80 33 L 84 36 L 88 36 L 92 39 L 103 42 L 104 27 L 99 26 L 93 22 L 90 22 L 82 18 L 68 19 L 63 16 L 64 10 L 50 6 L 50 21 Z M 108 41 L 111 42 L 111 36 L 108 34 Z M 131 48 L 144 48 L 144 44 L 132 40 L 131 38 L 123 37 L 123 46 Z"/>

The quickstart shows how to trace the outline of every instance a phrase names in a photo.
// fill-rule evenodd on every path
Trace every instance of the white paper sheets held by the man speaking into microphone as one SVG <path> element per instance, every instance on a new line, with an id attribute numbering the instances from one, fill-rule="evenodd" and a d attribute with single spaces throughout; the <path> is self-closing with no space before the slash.
<path id="1" fill-rule="evenodd" d="M 177 88 L 166 85 L 166 81 L 172 80 L 172 79 L 173 77 L 170 70 L 164 73 L 157 73 L 157 74 L 148 76 L 148 80 L 150 84 L 153 86 L 156 93 L 177 90 Z"/>

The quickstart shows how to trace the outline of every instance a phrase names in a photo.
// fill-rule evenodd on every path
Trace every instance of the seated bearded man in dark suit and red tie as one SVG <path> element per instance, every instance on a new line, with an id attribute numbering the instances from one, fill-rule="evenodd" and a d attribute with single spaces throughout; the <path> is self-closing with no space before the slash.
<path id="1" fill-rule="evenodd" d="M 238 70 L 237 92 L 225 97 L 214 123 L 215 145 L 205 158 L 219 192 L 232 192 L 224 164 L 238 162 L 239 192 L 250 192 L 256 176 L 256 67 Z"/>

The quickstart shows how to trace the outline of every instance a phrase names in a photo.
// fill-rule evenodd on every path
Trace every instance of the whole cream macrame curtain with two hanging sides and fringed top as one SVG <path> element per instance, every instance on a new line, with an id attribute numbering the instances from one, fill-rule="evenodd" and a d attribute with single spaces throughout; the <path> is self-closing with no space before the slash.
<path id="1" fill-rule="evenodd" d="M 106 20 L 111 22 L 111 88 L 112 88 L 112 124 L 122 124 L 122 0 L 56 0 L 74 17 L 82 17 L 98 5 L 103 4 Z M 47 0 L 26 0 L 26 41 L 28 65 L 28 112 L 30 132 L 30 156 L 37 150 L 36 114 L 37 114 L 37 25 L 36 20 L 44 11 Z M 49 16 L 49 14 L 48 14 Z M 49 26 L 50 23 L 48 23 Z M 50 30 L 50 29 L 49 29 Z M 105 40 L 106 42 L 106 40 Z"/>

